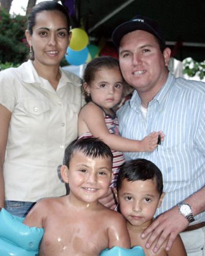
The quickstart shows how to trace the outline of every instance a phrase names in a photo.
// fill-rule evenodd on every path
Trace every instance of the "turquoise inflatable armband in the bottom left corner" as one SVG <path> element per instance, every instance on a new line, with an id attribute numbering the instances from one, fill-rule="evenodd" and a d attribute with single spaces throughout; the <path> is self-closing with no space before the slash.
<path id="1" fill-rule="evenodd" d="M 28 227 L 24 218 L 12 215 L 2 208 L 0 212 L 0 252 L 1 256 L 35 256 L 44 229 Z"/>

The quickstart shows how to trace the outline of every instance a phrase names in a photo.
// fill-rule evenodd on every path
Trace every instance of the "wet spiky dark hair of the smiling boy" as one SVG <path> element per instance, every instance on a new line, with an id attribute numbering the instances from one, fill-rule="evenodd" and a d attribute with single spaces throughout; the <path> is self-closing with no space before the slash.
<path id="1" fill-rule="evenodd" d="M 70 160 L 76 151 L 80 151 L 93 159 L 96 157 L 105 158 L 107 156 L 110 157 L 111 162 L 113 161 L 112 151 L 107 144 L 97 138 L 85 138 L 74 140 L 66 148 L 63 164 L 68 168 Z"/>

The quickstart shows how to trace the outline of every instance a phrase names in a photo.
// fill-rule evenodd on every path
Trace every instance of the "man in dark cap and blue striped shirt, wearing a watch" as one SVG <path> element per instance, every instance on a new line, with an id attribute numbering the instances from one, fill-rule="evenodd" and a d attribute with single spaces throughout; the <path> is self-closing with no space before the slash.
<path id="1" fill-rule="evenodd" d="M 169 73 L 171 50 L 153 19 L 135 16 L 114 30 L 112 40 L 122 75 L 135 88 L 118 112 L 121 135 L 140 140 L 151 131 L 165 133 L 165 141 L 152 153 L 125 153 L 126 160 L 154 162 L 167 193 L 157 212 L 163 214 L 141 236 L 149 237 L 146 247 L 155 243 L 157 252 L 167 238 L 169 250 L 184 231 L 187 251 L 205 255 L 205 84 Z"/>

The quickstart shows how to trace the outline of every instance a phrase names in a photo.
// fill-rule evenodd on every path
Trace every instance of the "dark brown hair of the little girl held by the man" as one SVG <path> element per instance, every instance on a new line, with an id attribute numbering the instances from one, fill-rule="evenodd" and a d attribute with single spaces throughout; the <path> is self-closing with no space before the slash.
<path id="1" fill-rule="evenodd" d="M 119 61 L 112 56 L 95 57 L 90 61 L 84 71 L 84 82 L 90 84 L 95 79 L 95 73 L 101 68 L 119 68 Z M 120 71 L 121 72 L 121 71 Z M 86 102 L 91 101 L 91 97 L 85 92 Z"/>

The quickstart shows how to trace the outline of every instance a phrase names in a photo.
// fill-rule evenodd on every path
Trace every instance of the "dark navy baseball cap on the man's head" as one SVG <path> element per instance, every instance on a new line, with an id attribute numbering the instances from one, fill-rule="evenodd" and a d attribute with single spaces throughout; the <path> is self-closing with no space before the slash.
<path id="1" fill-rule="evenodd" d="M 136 15 L 130 21 L 122 23 L 112 33 L 112 41 L 117 48 L 119 48 L 119 43 L 121 38 L 135 30 L 144 30 L 147 31 L 158 38 L 161 42 L 163 48 L 166 48 L 165 38 L 163 36 L 163 32 L 159 26 L 159 23 L 154 19 Z"/>

